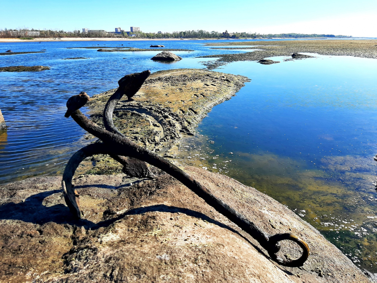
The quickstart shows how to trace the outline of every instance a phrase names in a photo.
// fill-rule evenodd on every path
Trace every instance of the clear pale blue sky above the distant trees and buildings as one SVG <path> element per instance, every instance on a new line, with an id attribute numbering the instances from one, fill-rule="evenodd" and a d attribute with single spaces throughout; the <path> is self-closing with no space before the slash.
<path id="1" fill-rule="evenodd" d="M 300 32 L 377 37 L 377 0 L 2 0 L 0 28 Z"/>

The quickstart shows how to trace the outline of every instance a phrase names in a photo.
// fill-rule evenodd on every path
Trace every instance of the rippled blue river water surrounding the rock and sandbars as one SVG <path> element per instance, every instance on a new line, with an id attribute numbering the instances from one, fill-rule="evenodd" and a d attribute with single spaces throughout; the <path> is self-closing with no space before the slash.
<path id="1" fill-rule="evenodd" d="M 149 69 L 205 68 L 216 41 L 164 41 L 183 60 L 150 60 L 158 51 L 97 52 L 83 46 L 147 48 L 148 41 L 0 43 L 1 50 L 46 53 L 0 56 L 0 66 L 43 65 L 41 72 L 0 73 L 0 184 L 60 174 L 84 131 L 64 118 L 71 95 L 97 94 L 123 75 Z M 219 41 L 224 43 L 224 41 Z M 313 54 L 312 54 L 313 55 Z M 233 62 L 215 71 L 251 79 L 215 106 L 180 148 L 181 164 L 229 175 L 265 192 L 308 221 L 357 266 L 377 272 L 377 61 L 322 56 L 261 65 Z M 70 57 L 89 59 L 62 60 Z M 212 60 L 212 59 L 211 59 Z M 84 109 L 85 110 L 85 109 Z"/>

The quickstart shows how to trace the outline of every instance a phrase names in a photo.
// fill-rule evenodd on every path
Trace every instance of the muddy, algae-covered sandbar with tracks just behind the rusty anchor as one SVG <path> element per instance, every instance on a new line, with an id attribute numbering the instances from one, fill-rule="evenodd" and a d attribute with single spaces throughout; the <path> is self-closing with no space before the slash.
<path id="1" fill-rule="evenodd" d="M 195 127 L 211 110 L 230 99 L 248 82 L 247 77 L 202 69 L 173 69 L 150 75 L 133 101 L 122 98 L 115 108 L 115 126 L 138 145 L 174 158 L 183 135 L 193 135 Z M 87 103 L 90 118 L 103 125 L 103 109 L 116 89 L 93 95 Z M 88 135 L 87 138 L 92 138 Z M 121 172 L 111 158 L 92 159 L 90 173 Z"/>

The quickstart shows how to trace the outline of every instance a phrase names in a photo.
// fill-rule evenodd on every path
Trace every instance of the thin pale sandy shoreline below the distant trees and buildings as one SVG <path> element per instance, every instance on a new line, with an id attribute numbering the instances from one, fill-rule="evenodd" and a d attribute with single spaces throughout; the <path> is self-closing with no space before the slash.
<path id="1" fill-rule="evenodd" d="M 353 37 L 352 39 L 361 39 L 363 37 Z M 20 38 L 0 38 L 0 42 L 52 42 L 52 41 L 166 41 L 166 40 L 268 40 L 268 39 L 331 39 L 329 37 L 301 37 L 301 38 L 288 38 L 288 37 L 274 37 L 274 38 L 112 38 L 112 37 L 61 37 L 61 38 L 34 38 L 34 39 L 20 39 Z M 345 38 L 339 38 L 335 40 L 344 40 Z M 351 38 L 347 38 L 351 39 Z M 365 38 L 373 39 L 373 38 Z"/>

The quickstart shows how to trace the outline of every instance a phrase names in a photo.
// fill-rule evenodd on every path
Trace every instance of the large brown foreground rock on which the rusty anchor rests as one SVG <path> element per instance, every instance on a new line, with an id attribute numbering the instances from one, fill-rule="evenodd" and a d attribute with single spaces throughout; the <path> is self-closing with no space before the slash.
<path id="1" fill-rule="evenodd" d="M 302 268 L 275 265 L 253 238 L 169 175 L 139 183 L 124 174 L 81 175 L 74 179 L 80 221 L 64 203 L 61 177 L 0 187 L 0 281 L 370 282 L 284 205 L 225 175 L 185 169 L 269 234 L 305 240 L 310 257 Z M 282 256 L 295 254 L 285 247 Z"/>

